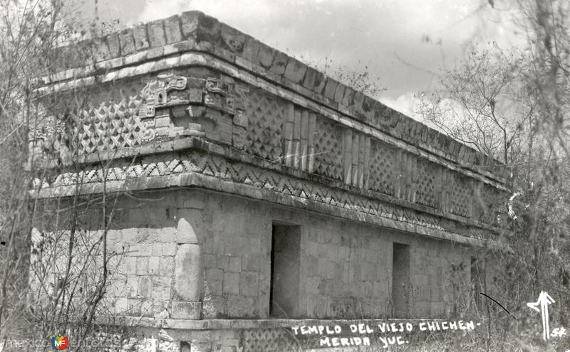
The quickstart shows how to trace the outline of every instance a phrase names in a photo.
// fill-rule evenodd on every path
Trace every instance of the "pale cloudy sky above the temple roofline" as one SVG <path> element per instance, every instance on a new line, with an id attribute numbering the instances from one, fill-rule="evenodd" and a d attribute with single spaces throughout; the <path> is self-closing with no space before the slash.
<path id="1" fill-rule="evenodd" d="M 312 63 L 328 58 L 348 70 L 368 65 L 387 88 L 378 98 L 406 114 L 414 95 L 430 90 L 470 45 L 513 41 L 512 23 L 502 20 L 509 11 L 493 9 L 489 0 L 83 1 L 85 18 L 93 17 L 97 1 L 100 21 L 125 26 L 199 10 Z"/>

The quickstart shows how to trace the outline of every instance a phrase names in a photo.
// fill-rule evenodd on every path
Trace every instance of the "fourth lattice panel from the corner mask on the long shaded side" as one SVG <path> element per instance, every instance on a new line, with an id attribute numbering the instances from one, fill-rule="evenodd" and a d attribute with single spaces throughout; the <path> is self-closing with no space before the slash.
<path id="1" fill-rule="evenodd" d="M 416 169 L 417 180 L 415 181 L 415 203 L 432 208 L 439 208 L 439 174 L 440 166 L 418 158 Z"/>

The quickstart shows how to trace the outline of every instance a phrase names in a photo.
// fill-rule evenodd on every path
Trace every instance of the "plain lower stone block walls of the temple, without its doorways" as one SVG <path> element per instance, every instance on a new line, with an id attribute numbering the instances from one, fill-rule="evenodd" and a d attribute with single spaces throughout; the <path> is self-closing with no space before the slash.
<path id="1" fill-rule="evenodd" d="M 180 218 L 192 225 L 202 251 L 202 316 L 183 297 L 191 285 L 179 284 L 185 272 L 177 256 L 190 242 L 177 228 Z M 266 319 L 274 223 L 301 228 L 299 306 L 289 318 L 390 317 L 393 242 L 410 245 L 410 316 L 446 316 L 460 297 L 454 290 L 468 287 L 467 247 L 247 198 L 180 190 L 118 203 L 108 233 L 108 247 L 118 256 L 105 304 L 117 315 Z"/>

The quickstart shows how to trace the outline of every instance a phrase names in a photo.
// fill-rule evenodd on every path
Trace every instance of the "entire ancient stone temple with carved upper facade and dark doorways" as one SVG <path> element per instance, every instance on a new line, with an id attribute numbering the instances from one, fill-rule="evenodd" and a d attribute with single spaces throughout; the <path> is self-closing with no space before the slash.
<path id="1" fill-rule="evenodd" d="M 450 278 L 469 287 L 477 251 L 500 246 L 497 161 L 215 18 L 61 52 L 40 91 L 88 104 L 79 123 L 56 114 L 49 133 L 73 138 L 34 192 L 120 194 L 105 302 L 168 351 L 285 351 L 307 319 L 442 318 Z"/>

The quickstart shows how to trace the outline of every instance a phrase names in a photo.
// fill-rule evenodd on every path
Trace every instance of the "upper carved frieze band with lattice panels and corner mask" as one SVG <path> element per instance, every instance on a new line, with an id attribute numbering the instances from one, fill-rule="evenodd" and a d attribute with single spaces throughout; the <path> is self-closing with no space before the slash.
<path id="1" fill-rule="evenodd" d="M 77 140 L 71 148 L 90 154 L 205 137 L 271 164 L 451 217 L 495 224 L 497 214 L 504 211 L 501 194 L 492 186 L 480 192 L 482 201 L 474 200 L 474 178 L 224 75 L 158 75 L 144 86 L 139 83 L 131 94 L 78 112 L 73 132 Z"/>

